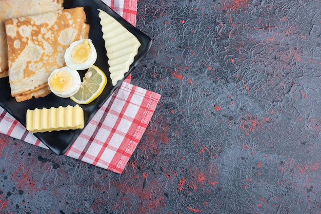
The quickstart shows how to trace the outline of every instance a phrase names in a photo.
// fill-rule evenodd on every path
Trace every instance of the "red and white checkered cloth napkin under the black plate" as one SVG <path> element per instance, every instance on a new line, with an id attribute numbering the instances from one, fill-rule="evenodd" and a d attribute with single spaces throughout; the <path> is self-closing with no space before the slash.
<path id="1" fill-rule="evenodd" d="M 136 0 L 103 2 L 135 25 Z M 159 99 L 159 94 L 131 85 L 129 76 L 97 111 L 65 155 L 122 173 Z M 0 132 L 47 148 L 1 107 Z"/>

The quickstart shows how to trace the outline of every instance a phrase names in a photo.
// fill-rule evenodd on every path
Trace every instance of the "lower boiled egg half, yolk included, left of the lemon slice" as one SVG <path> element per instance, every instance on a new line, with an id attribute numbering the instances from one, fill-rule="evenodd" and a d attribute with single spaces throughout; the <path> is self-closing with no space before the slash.
<path id="1" fill-rule="evenodd" d="M 51 92 L 61 98 L 69 98 L 74 95 L 79 90 L 81 83 L 78 71 L 68 66 L 55 69 L 48 78 Z"/>

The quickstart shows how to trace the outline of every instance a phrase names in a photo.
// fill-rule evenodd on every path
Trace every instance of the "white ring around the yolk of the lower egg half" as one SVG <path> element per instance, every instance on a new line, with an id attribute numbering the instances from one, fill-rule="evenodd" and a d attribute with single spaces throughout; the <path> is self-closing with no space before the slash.
<path id="1" fill-rule="evenodd" d="M 71 87 L 67 90 L 67 91 L 63 91 L 63 92 L 58 92 L 58 91 L 55 91 L 51 84 L 50 84 L 50 80 L 51 80 L 51 77 L 59 72 L 59 71 L 67 71 L 68 73 L 71 74 L 72 76 L 72 85 Z M 81 87 L 81 83 L 82 83 L 82 80 L 81 80 L 81 77 L 78 73 L 77 70 L 75 69 L 72 69 L 68 66 L 65 66 L 65 67 L 62 67 L 62 68 L 58 68 L 58 69 L 55 69 L 54 71 L 51 72 L 49 78 L 48 78 L 48 85 L 49 85 L 49 88 L 51 90 L 52 93 L 54 93 L 55 95 L 61 97 L 61 98 L 70 98 L 70 96 L 74 95 L 75 93 L 77 93 L 77 91 L 79 90 L 79 88 Z"/>

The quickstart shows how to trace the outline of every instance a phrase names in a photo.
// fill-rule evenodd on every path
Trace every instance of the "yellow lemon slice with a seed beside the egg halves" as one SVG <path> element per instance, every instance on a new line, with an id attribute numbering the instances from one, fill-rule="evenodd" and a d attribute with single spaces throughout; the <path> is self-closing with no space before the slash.
<path id="1" fill-rule="evenodd" d="M 97 66 L 91 66 L 85 73 L 83 82 L 77 93 L 70 99 L 78 104 L 88 104 L 95 100 L 107 84 L 105 73 Z"/>

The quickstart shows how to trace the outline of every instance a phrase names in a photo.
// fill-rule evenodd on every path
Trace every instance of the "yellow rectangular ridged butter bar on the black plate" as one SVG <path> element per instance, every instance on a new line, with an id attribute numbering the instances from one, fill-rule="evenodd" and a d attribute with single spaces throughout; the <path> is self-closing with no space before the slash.
<path id="1" fill-rule="evenodd" d="M 78 105 L 28 109 L 26 119 L 31 133 L 84 128 L 84 110 Z"/>

